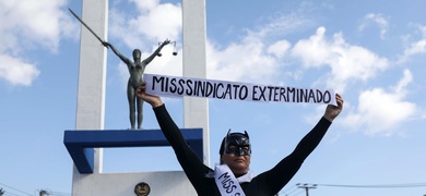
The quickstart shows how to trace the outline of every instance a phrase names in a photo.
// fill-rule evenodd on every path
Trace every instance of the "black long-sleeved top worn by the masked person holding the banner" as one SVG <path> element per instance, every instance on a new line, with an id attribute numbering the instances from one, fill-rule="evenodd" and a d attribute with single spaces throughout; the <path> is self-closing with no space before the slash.
<path id="1" fill-rule="evenodd" d="M 200 196 L 220 196 L 214 177 L 208 174 L 214 172 L 206 167 L 193 150 L 187 145 L 180 130 L 168 114 L 165 105 L 154 108 L 159 127 L 175 150 L 176 157 L 186 175 Z M 297 145 L 295 150 L 281 160 L 274 168 L 251 180 L 240 183 L 247 196 L 273 196 L 283 188 L 296 174 L 304 160 L 318 146 L 331 122 L 324 118 L 317 123 Z M 238 176 L 236 176 L 238 177 Z"/>

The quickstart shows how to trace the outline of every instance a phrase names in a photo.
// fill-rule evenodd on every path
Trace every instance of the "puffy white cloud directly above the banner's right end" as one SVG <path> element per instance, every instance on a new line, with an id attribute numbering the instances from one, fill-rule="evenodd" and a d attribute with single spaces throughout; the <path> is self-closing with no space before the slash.
<path id="1" fill-rule="evenodd" d="M 347 44 L 341 33 L 334 34 L 329 40 L 324 27 L 319 27 L 309 39 L 299 40 L 291 54 L 299 59 L 306 69 L 330 66 L 332 72 L 328 86 L 338 91 L 344 91 L 348 79 L 365 82 L 389 66 L 386 58 L 360 46 Z"/>

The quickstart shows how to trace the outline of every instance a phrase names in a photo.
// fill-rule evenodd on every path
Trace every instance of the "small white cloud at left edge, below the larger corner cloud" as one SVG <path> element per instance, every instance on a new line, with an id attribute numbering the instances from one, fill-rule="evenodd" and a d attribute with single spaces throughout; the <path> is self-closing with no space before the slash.
<path id="1" fill-rule="evenodd" d="M 39 73 L 34 64 L 0 54 L 0 78 L 12 85 L 29 86 Z"/>

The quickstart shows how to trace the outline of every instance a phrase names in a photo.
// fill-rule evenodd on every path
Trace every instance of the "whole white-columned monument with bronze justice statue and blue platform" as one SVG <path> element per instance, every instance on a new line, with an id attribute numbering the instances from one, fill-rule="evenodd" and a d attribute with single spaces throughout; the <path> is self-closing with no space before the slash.
<path id="1" fill-rule="evenodd" d="M 182 0 L 184 76 L 205 78 L 205 1 Z M 82 1 L 80 66 L 75 130 L 64 131 L 63 143 L 74 163 L 72 176 L 73 196 L 117 195 L 187 195 L 197 193 L 184 171 L 155 172 L 103 172 L 103 148 L 169 146 L 161 130 L 142 128 L 142 102 L 132 95 L 140 86 L 144 68 L 155 58 L 162 57 L 164 46 L 171 44 L 173 56 L 177 56 L 176 41 L 166 39 L 145 60 L 133 51 L 133 60 L 122 56 L 107 37 L 108 1 Z M 96 34 L 96 33 L 97 34 Z M 99 46 L 99 41 L 104 46 Z M 129 68 L 135 69 L 129 77 L 129 119 L 131 128 L 105 130 L 105 81 L 106 54 L 111 49 Z M 140 51 L 139 51 L 140 52 Z M 139 59 L 138 59 L 139 57 Z M 135 82 L 134 82 L 135 81 Z M 129 93 L 130 90 L 130 93 Z M 132 96 L 134 99 L 132 100 Z M 133 110 L 132 110 L 133 108 Z M 210 162 L 208 100 L 184 98 L 184 128 L 187 143 L 206 166 Z M 138 112 L 138 113 L 137 113 Z M 143 156 L 143 155 L 140 155 Z M 170 157 L 173 159 L 174 157 Z M 150 161 L 150 157 L 146 157 Z M 155 159 L 152 159 L 155 164 Z"/>

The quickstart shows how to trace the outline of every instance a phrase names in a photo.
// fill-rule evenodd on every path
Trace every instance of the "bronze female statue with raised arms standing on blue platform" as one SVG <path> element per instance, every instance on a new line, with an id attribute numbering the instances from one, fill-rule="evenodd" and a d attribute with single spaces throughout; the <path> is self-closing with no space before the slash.
<path id="1" fill-rule="evenodd" d="M 166 39 L 163 41 L 158 48 L 145 60 L 141 61 L 142 52 L 139 49 L 133 50 L 133 61 L 121 54 L 111 44 L 107 41 L 103 41 L 102 44 L 110 48 L 114 53 L 116 53 L 122 62 L 127 64 L 127 68 L 130 73 L 129 82 L 127 84 L 127 98 L 129 101 L 129 110 L 130 110 L 130 124 L 131 130 L 135 130 L 135 108 L 138 107 L 138 130 L 142 128 L 142 119 L 143 119 L 143 100 L 138 98 L 135 95 L 135 90 L 139 86 L 142 84 L 142 74 L 145 71 L 145 68 L 150 62 L 159 54 L 159 51 L 163 49 L 164 46 L 168 45 L 170 40 Z"/>

